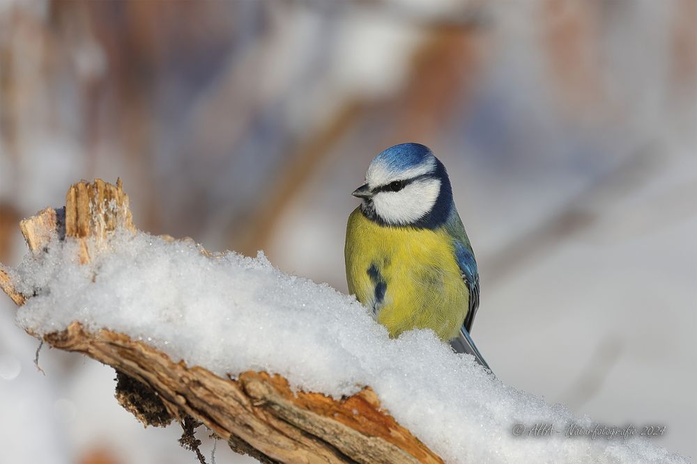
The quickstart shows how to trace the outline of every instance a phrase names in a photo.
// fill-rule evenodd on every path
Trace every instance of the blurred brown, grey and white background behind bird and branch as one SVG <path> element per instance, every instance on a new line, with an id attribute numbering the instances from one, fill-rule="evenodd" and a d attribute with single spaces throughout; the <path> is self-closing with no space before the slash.
<path id="1" fill-rule="evenodd" d="M 5 264 L 121 177 L 142 230 L 346 291 L 350 193 L 407 141 L 449 170 L 497 376 L 697 456 L 697 2 L 0 0 Z M 194 462 L 37 346 L 0 298 L 0 461 Z"/>

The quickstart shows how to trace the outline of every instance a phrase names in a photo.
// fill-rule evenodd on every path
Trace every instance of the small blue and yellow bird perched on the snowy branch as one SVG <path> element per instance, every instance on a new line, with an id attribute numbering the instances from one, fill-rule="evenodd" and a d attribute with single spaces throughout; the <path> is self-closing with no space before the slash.
<path id="1" fill-rule="evenodd" d="M 491 368 L 470 332 L 480 302 L 477 261 L 445 166 L 429 147 L 401 143 L 369 164 L 346 224 L 348 291 L 390 337 L 434 331 Z"/>

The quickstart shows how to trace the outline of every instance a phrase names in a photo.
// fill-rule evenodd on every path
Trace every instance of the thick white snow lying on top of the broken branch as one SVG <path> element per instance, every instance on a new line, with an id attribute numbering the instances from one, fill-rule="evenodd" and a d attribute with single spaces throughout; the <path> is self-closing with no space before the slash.
<path id="1" fill-rule="evenodd" d="M 688 462 L 636 436 L 567 437 L 571 424 L 592 428 L 590 418 L 504 385 L 429 330 L 390 339 L 353 297 L 282 273 L 263 253 L 209 257 L 192 241 L 119 231 L 80 265 L 77 247 L 52 241 L 11 271 L 20 291 L 36 292 L 17 311 L 20 326 L 44 334 L 79 321 L 220 376 L 268 371 L 335 398 L 370 385 L 447 462 Z M 514 424 L 553 432 L 515 437 Z"/>

